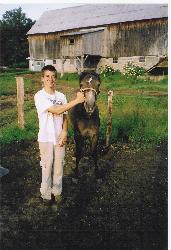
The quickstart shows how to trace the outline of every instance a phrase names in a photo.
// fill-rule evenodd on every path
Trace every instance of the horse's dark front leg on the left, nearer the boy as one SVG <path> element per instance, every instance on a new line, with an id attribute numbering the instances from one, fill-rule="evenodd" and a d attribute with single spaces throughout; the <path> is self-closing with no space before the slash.
<path id="1" fill-rule="evenodd" d="M 78 177 L 78 166 L 79 166 L 80 159 L 82 157 L 82 149 L 83 149 L 84 139 L 80 133 L 75 132 L 74 133 L 74 141 L 75 141 L 75 157 L 76 157 L 75 174 L 76 174 L 76 177 Z"/>

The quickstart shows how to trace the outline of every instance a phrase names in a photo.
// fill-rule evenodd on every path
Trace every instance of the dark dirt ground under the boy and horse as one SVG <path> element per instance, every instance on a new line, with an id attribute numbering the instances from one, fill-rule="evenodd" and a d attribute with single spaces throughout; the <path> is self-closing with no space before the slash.
<path id="1" fill-rule="evenodd" d="M 40 199 L 36 141 L 1 149 L 1 249 L 167 249 L 167 145 L 99 148 L 101 181 L 84 157 L 72 182 L 74 144 L 67 145 L 60 207 Z"/>

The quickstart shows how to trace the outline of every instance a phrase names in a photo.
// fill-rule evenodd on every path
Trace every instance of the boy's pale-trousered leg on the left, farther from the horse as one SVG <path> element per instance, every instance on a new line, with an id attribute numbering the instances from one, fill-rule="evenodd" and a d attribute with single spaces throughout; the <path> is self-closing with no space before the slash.
<path id="1" fill-rule="evenodd" d="M 42 167 L 41 197 L 51 199 L 51 173 L 53 165 L 53 143 L 39 142 L 40 166 Z"/>

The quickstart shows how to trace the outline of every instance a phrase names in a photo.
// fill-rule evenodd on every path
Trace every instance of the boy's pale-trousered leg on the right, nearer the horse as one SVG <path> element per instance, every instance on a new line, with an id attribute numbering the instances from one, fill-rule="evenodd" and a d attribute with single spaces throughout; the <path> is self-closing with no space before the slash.
<path id="1" fill-rule="evenodd" d="M 54 168 L 52 193 L 57 196 L 62 192 L 62 176 L 65 157 L 65 146 L 54 146 Z"/>

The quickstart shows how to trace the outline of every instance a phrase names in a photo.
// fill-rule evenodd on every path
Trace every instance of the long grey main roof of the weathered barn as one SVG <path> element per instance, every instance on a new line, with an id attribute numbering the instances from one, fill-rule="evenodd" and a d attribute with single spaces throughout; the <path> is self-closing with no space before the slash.
<path id="1" fill-rule="evenodd" d="M 44 34 L 163 17 L 168 17 L 167 4 L 87 4 L 45 11 L 27 34 Z"/>

